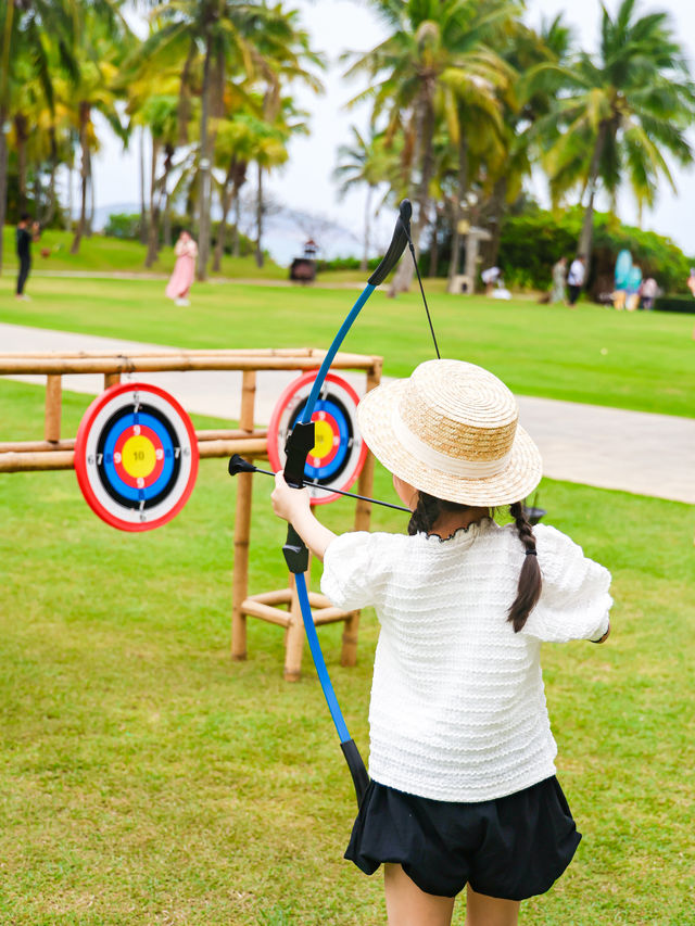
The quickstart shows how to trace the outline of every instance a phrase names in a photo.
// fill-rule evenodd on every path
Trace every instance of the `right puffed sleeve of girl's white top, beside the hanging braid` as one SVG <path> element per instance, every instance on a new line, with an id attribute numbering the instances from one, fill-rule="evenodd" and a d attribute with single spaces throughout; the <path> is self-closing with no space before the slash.
<path id="1" fill-rule="evenodd" d="M 555 528 L 538 524 L 533 533 L 543 588 L 521 633 L 548 643 L 601 639 L 612 605 L 610 573 Z"/>

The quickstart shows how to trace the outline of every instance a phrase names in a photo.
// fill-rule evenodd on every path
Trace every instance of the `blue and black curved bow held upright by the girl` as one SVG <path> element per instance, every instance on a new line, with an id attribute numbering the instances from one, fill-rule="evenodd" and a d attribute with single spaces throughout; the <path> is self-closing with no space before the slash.
<path id="1" fill-rule="evenodd" d="M 292 429 L 292 433 L 288 437 L 285 447 L 285 479 L 288 485 L 301 489 L 304 484 L 304 466 L 306 457 L 315 444 L 315 426 L 312 421 L 312 415 L 314 414 L 314 408 L 316 407 L 316 402 L 318 401 L 324 381 L 340 345 L 362 312 L 365 303 L 379 283 L 381 283 L 390 274 L 405 250 L 405 245 L 409 240 L 409 220 L 412 212 L 413 208 L 410 203 L 408 200 L 404 200 L 399 210 L 399 218 L 396 220 L 389 250 L 377 269 L 369 277 L 367 286 L 359 294 L 357 301 L 333 338 L 332 344 L 326 352 L 326 356 L 324 357 L 320 369 L 314 380 L 314 385 L 312 386 L 312 391 L 306 401 L 306 405 L 302 411 L 301 420 Z M 288 524 L 287 541 L 282 547 L 282 553 L 285 554 L 285 559 L 290 572 L 294 574 L 296 595 L 302 611 L 302 620 L 304 622 L 304 630 L 306 632 L 312 658 L 316 667 L 318 680 L 324 690 L 326 702 L 328 703 L 328 709 L 330 710 L 336 725 L 336 731 L 340 738 L 341 749 L 343 750 L 348 768 L 352 775 L 357 796 L 357 804 L 361 806 L 369 783 L 369 776 L 367 775 L 367 770 L 362 756 L 359 754 L 354 740 L 350 736 L 348 725 L 345 724 L 342 711 L 340 710 L 340 705 L 338 703 L 338 698 L 336 697 L 336 693 L 330 681 L 330 675 L 328 674 L 328 669 L 326 668 L 326 660 L 324 659 L 324 654 L 318 642 L 318 635 L 316 633 L 316 626 L 314 624 L 312 608 L 308 600 L 306 580 L 304 578 L 304 573 L 308 568 L 308 550 L 292 524 Z"/>

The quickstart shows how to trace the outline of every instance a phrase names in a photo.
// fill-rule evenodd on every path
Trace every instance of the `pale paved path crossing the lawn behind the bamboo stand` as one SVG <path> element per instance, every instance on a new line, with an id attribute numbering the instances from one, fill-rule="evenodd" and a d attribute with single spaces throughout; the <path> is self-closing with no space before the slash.
<path id="1" fill-rule="evenodd" d="M 0 352 L 106 351 L 118 353 L 163 345 L 121 341 L 63 331 L 0 325 Z M 256 423 L 267 423 L 281 390 L 299 373 L 261 372 Z M 357 392 L 364 376 L 341 373 Z M 170 392 L 186 409 L 217 418 L 238 418 L 241 373 L 143 373 L 140 380 Z M 45 382 L 45 377 L 16 377 Z M 66 376 L 63 388 L 96 395 L 100 376 Z M 624 411 L 595 405 L 518 396 L 520 420 L 543 455 L 544 473 L 553 479 L 620 489 L 695 504 L 695 418 Z M 11 435 L 4 435 L 5 440 Z"/>

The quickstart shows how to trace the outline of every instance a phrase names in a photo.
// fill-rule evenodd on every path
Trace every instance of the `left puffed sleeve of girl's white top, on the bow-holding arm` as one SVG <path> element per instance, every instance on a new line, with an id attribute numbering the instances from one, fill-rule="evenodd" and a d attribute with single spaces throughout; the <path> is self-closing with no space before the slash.
<path id="1" fill-rule="evenodd" d="M 331 541 L 324 555 L 321 592 L 346 611 L 376 605 L 389 572 L 392 535 L 355 531 Z"/>

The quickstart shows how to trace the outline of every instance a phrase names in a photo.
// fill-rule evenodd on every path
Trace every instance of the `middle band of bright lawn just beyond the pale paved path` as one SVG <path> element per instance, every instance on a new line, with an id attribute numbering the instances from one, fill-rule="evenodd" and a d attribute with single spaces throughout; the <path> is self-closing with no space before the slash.
<path id="1" fill-rule="evenodd" d="M 31 302 L 0 280 L 0 321 L 179 347 L 323 346 L 332 341 L 356 291 L 311 287 L 197 284 L 192 306 L 165 299 L 160 280 L 30 278 Z M 692 417 L 692 319 L 671 313 L 577 309 L 516 300 L 431 293 L 443 356 L 493 370 L 515 392 Z M 416 293 L 377 292 L 344 350 L 384 355 L 384 371 L 406 376 L 433 354 Z"/>

